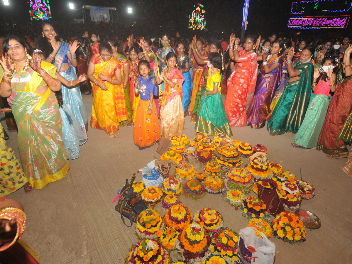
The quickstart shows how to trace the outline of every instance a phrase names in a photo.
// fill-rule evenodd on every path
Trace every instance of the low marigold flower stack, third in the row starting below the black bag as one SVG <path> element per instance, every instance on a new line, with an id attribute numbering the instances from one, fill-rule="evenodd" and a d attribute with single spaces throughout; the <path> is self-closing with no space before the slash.
<path id="1" fill-rule="evenodd" d="M 194 222 L 204 226 L 208 231 L 223 226 L 222 214 L 212 208 L 203 208 L 194 215 Z"/>

